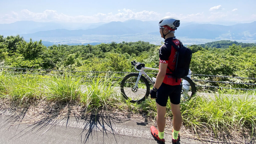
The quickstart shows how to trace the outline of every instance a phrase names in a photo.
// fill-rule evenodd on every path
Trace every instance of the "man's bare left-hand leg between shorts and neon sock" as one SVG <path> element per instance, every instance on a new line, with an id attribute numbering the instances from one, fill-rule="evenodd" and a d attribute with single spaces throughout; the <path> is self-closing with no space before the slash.
<path id="1" fill-rule="evenodd" d="M 160 106 L 157 103 L 156 103 L 156 107 L 157 107 L 157 117 L 156 117 L 157 128 L 159 132 L 163 132 L 165 127 L 166 107 Z"/>

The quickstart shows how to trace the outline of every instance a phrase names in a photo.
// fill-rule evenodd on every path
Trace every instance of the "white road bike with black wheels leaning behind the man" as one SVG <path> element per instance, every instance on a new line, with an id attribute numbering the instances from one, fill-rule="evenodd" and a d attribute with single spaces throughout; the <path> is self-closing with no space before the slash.
<path id="1" fill-rule="evenodd" d="M 159 70 L 156 68 L 145 67 L 145 64 L 132 61 L 132 67 L 134 67 L 139 73 L 131 73 L 126 75 L 121 81 L 121 93 L 122 96 L 130 100 L 130 102 L 141 103 L 144 101 L 150 92 L 150 84 L 153 87 L 155 84 L 155 78 L 152 79 L 144 72 L 147 70 Z M 191 71 L 189 75 L 182 78 L 182 91 L 180 102 L 185 102 L 191 99 L 196 93 L 196 86 L 190 79 Z"/>

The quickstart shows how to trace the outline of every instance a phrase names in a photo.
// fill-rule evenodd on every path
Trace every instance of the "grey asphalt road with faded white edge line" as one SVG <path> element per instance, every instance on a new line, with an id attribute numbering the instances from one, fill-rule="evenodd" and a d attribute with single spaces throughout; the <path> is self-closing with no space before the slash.
<path id="1" fill-rule="evenodd" d="M 0 111 L 1 144 L 158 143 L 151 135 L 151 125 L 117 117 L 90 115 L 33 125 L 15 125 L 17 119 L 21 118 L 7 111 Z M 166 143 L 172 143 L 171 135 L 165 134 L 165 139 Z M 201 142 L 181 137 L 180 143 Z"/>

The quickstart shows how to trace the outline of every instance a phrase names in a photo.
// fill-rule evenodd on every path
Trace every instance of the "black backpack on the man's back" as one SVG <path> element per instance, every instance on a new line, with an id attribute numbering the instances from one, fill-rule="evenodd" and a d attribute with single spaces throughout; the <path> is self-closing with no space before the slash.
<path id="1" fill-rule="evenodd" d="M 192 58 L 192 51 L 189 48 L 183 46 L 183 44 L 180 41 L 179 43 L 180 47 L 177 47 L 172 41 L 170 42 L 170 44 L 172 44 L 172 46 L 177 50 L 178 54 L 176 56 L 177 59 L 175 70 L 172 71 L 168 67 L 168 69 L 172 72 L 172 74 L 169 75 L 176 77 L 176 81 L 177 78 L 183 78 L 188 75 L 189 65 Z"/>

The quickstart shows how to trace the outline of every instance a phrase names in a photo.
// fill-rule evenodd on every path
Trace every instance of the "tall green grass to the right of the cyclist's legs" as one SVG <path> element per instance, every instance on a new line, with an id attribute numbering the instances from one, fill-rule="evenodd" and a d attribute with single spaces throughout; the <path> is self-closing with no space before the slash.
<path id="1" fill-rule="evenodd" d="M 239 131 L 242 134 L 249 130 L 251 135 L 255 135 L 255 96 L 224 94 L 219 91 L 212 98 L 192 98 L 181 105 L 181 112 L 185 126 L 192 127 L 195 132 L 208 129 L 218 137 L 223 131 Z"/>

